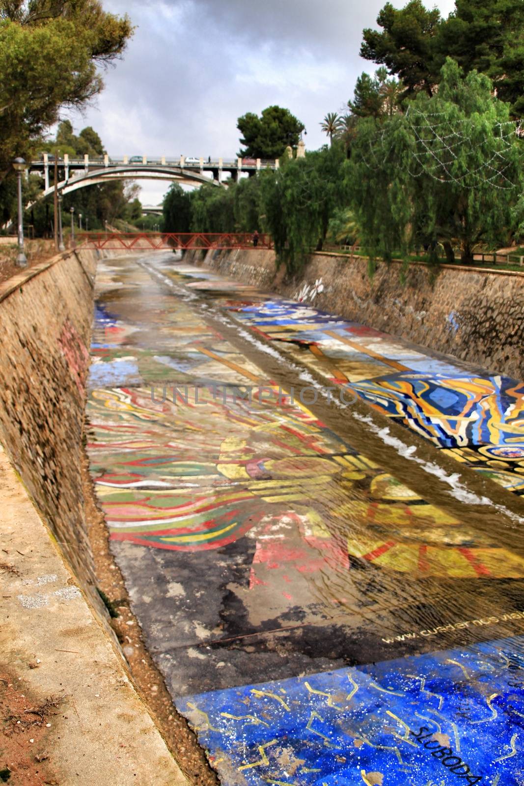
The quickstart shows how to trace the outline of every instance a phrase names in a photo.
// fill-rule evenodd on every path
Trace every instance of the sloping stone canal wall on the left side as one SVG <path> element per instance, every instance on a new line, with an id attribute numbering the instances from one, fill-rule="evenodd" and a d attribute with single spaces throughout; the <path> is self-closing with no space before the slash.
<path id="1" fill-rule="evenodd" d="M 0 287 L 0 440 L 75 573 L 93 585 L 80 461 L 95 252 Z"/>

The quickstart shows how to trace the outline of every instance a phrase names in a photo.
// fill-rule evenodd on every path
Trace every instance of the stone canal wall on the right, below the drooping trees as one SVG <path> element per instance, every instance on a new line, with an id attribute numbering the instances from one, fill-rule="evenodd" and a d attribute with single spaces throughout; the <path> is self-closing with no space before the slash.
<path id="1" fill-rule="evenodd" d="M 274 252 L 189 252 L 205 264 L 280 295 L 295 297 L 322 279 L 315 306 L 404 339 L 482 365 L 494 373 L 524 377 L 524 273 L 442 266 L 379 264 L 368 277 L 367 259 L 316 253 L 299 277 L 277 270 Z"/>

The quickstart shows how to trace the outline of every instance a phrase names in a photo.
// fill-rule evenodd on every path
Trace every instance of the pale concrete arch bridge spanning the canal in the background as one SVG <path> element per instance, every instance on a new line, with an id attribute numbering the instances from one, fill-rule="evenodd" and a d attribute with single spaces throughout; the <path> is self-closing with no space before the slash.
<path id="1" fill-rule="evenodd" d="M 51 154 L 43 153 L 41 159 L 31 161 L 28 167 L 28 172 L 43 174 L 45 187 L 41 196 L 50 196 L 53 193 L 54 185 L 50 185 L 49 171 L 53 172 L 55 163 L 59 173 L 57 188 L 63 194 L 71 193 L 86 185 L 124 179 L 170 180 L 188 185 L 203 183 L 222 185 L 224 172 L 229 173 L 233 181 L 237 181 L 244 172 L 252 176 L 261 169 L 278 169 L 278 160 L 251 158 L 212 160 L 209 157 L 204 160 L 185 156 L 179 156 L 177 159 L 167 159 L 165 156 L 161 158 L 122 156 L 114 159 L 110 156 L 93 158 L 86 155 L 82 159 L 71 159 L 66 153 L 63 158 L 55 160 Z"/>

